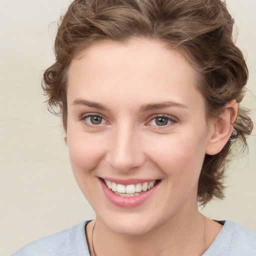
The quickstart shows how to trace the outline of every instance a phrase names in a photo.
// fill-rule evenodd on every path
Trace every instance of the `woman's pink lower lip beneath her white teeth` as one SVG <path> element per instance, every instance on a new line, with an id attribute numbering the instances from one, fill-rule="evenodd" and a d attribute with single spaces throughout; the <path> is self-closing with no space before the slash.
<path id="1" fill-rule="evenodd" d="M 110 190 L 104 183 L 102 179 L 99 179 L 102 189 L 104 191 L 104 194 L 106 198 L 114 205 L 123 207 L 123 208 L 132 208 L 136 207 L 143 202 L 145 202 L 155 191 L 155 189 L 158 187 L 158 184 L 155 184 L 151 189 L 147 190 L 144 193 L 141 193 L 139 195 L 134 195 L 134 196 L 121 196 L 113 193 L 112 190 Z"/>

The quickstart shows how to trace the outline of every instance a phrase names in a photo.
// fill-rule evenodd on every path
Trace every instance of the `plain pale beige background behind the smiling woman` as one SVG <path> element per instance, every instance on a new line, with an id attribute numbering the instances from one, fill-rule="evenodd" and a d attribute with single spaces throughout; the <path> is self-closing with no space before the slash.
<path id="1" fill-rule="evenodd" d="M 54 59 L 54 21 L 69 3 L 0 0 L 0 256 L 94 216 L 74 181 L 61 122 L 47 112 L 40 87 Z M 227 4 L 250 70 L 247 87 L 256 95 L 256 1 Z M 252 93 L 244 105 L 256 109 Z M 251 116 L 255 123 L 255 110 Z M 203 212 L 256 232 L 256 137 L 248 142 L 249 154 L 228 168 L 226 199 Z"/>

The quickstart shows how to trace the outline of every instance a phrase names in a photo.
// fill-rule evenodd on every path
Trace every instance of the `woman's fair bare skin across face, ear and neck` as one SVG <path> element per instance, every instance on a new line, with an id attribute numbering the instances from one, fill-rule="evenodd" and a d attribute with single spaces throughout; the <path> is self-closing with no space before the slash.
<path id="1" fill-rule="evenodd" d="M 66 143 L 96 214 L 97 256 L 200 255 L 220 231 L 197 209 L 197 184 L 205 153 L 219 152 L 230 136 L 236 104 L 206 120 L 195 80 L 186 59 L 155 40 L 102 41 L 72 60 Z M 145 108 L 162 102 L 171 104 Z M 101 123 L 92 124 L 89 114 Z M 159 126 L 162 116 L 168 122 Z M 105 197 L 99 177 L 161 181 L 145 202 L 123 208 Z M 93 224 L 86 227 L 90 251 Z"/>

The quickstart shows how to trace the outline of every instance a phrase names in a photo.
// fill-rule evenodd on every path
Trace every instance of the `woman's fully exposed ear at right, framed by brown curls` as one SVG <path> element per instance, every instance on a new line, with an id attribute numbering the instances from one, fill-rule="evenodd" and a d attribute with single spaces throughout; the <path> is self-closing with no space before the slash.
<path id="1" fill-rule="evenodd" d="M 206 154 L 217 154 L 228 141 L 232 131 L 233 122 L 237 115 L 237 103 L 231 100 L 225 105 L 219 118 L 212 120 L 209 129 L 209 140 L 206 144 Z"/>

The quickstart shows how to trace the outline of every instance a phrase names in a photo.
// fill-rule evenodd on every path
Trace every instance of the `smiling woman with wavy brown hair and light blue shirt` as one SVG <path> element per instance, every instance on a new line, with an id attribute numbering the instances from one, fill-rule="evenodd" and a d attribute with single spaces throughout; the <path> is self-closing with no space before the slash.
<path id="1" fill-rule="evenodd" d="M 256 235 L 203 216 L 252 122 L 247 67 L 220 0 L 75 0 L 44 73 L 96 218 L 13 255 L 256 255 Z"/>

